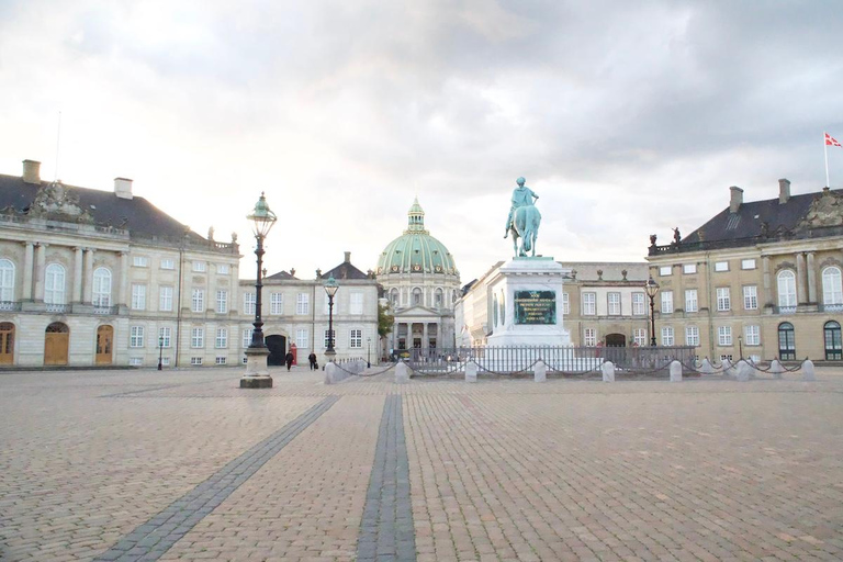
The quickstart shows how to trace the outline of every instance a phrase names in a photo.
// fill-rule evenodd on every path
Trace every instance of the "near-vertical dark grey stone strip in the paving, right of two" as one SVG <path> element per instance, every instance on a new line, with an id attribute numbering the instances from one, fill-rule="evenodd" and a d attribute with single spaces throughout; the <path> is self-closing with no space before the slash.
<path id="1" fill-rule="evenodd" d="M 386 396 L 369 477 L 366 507 L 357 540 L 357 560 L 416 560 L 416 538 L 409 502 L 409 460 L 404 437 L 402 401 Z"/>

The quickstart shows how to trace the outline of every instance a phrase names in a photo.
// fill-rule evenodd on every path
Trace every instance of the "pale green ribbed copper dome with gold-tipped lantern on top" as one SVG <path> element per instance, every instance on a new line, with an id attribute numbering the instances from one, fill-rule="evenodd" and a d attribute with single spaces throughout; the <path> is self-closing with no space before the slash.
<path id="1" fill-rule="evenodd" d="M 389 273 L 457 274 L 453 256 L 425 229 L 425 212 L 413 202 L 407 213 L 407 229 L 390 244 L 378 259 L 379 276 Z"/>

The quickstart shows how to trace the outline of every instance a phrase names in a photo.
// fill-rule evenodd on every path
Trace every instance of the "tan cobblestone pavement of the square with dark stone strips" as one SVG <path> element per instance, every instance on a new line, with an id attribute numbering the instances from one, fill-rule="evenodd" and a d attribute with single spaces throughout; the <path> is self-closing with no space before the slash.
<path id="1" fill-rule="evenodd" d="M 0 373 L 0 560 L 843 560 L 841 371 L 240 374 Z"/>

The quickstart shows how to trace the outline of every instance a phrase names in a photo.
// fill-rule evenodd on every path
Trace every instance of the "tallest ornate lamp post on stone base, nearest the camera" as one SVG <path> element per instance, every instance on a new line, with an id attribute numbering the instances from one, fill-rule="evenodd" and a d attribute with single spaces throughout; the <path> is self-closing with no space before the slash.
<path id="1" fill-rule="evenodd" d="M 255 281 L 255 329 L 251 331 L 251 344 L 246 349 L 246 374 L 240 379 L 240 389 L 271 389 L 272 378 L 267 368 L 269 349 L 263 341 L 263 319 L 260 311 L 260 290 L 263 288 L 263 239 L 269 234 L 278 217 L 269 210 L 267 199 L 260 193 L 255 211 L 247 216 L 252 222 L 252 233 L 257 241 L 255 255 L 258 257 L 258 277 Z"/>

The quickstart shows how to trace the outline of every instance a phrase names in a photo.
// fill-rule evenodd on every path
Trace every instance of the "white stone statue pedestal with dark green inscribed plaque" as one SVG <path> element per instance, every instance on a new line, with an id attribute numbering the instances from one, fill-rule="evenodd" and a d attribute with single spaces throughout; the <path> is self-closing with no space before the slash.
<path id="1" fill-rule="evenodd" d="M 570 346 L 564 327 L 562 284 L 571 270 L 553 258 L 519 257 L 488 282 L 492 335 L 487 346 Z"/>

